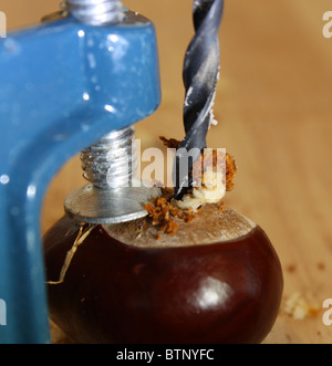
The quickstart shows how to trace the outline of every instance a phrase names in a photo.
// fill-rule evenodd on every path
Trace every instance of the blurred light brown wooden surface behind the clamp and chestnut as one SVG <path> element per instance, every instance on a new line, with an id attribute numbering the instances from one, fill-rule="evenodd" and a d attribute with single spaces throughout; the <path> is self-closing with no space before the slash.
<path id="1" fill-rule="evenodd" d="M 37 22 L 58 3 L 6 0 L 0 10 L 15 28 Z M 156 25 L 163 102 L 136 125 L 136 138 L 143 149 L 162 147 L 159 135 L 184 135 L 181 66 L 193 36 L 193 1 L 124 3 Z M 283 304 L 264 343 L 332 343 L 332 325 L 322 320 L 323 301 L 332 299 L 332 38 L 322 33 L 328 10 L 329 0 L 226 1 L 219 32 L 219 124 L 208 145 L 236 157 L 236 187 L 226 202 L 264 229 L 284 274 Z M 50 185 L 43 232 L 62 216 L 64 197 L 83 184 L 75 156 Z M 286 314 L 284 301 L 297 293 L 318 309 L 313 316 Z"/>

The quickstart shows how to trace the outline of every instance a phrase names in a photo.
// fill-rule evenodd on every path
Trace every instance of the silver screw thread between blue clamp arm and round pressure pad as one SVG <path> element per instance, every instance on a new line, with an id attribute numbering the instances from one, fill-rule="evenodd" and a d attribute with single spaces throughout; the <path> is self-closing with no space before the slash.
<path id="1" fill-rule="evenodd" d="M 137 170 L 134 126 L 116 129 L 81 153 L 83 177 L 98 188 L 128 187 Z"/>

